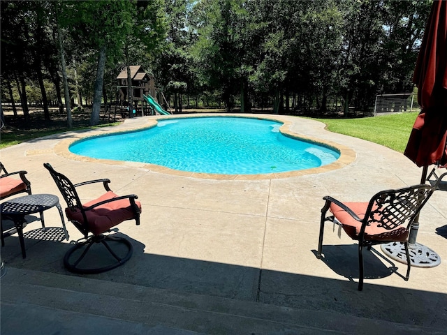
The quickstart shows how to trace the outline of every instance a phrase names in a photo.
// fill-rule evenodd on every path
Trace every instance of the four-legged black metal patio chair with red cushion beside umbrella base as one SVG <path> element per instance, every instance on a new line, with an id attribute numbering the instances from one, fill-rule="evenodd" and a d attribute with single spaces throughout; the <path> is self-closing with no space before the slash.
<path id="1" fill-rule="evenodd" d="M 408 248 L 410 225 L 433 191 L 434 186 L 430 185 L 409 186 L 381 191 L 369 202 L 340 202 L 325 196 L 316 257 L 320 259 L 322 256 L 324 224 L 330 221 L 341 225 L 351 239 L 358 241 L 359 291 L 363 288 L 363 248 L 369 250 L 376 244 L 393 241 L 404 244 L 407 260 L 405 280 L 408 281 L 411 269 Z"/>

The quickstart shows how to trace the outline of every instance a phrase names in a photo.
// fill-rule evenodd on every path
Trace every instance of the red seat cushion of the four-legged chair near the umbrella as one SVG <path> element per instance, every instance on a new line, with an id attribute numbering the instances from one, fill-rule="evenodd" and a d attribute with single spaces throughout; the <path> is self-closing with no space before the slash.
<path id="1" fill-rule="evenodd" d="M 368 207 L 368 202 L 345 202 L 347 207 L 349 207 L 357 216 L 362 219 L 365 217 L 365 213 Z M 342 223 L 342 227 L 346 234 L 351 237 L 351 239 L 358 239 L 358 234 L 360 234 L 360 228 L 362 228 L 362 223 L 353 218 L 347 211 L 342 209 L 342 207 L 337 206 L 335 203 L 330 204 L 330 211 L 334 214 L 335 218 Z M 391 230 L 379 227 L 378 223 L 370 223 L 365 228 L 366 241 L 407 241 L 409 236 L 409 230 L 404 227 L 404 225 L 399 225 Z"/>

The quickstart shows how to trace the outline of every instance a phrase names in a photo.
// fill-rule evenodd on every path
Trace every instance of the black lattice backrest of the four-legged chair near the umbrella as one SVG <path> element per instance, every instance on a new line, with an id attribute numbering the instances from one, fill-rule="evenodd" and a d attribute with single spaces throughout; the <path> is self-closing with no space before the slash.
<path id="1" fill-rule="evenodd" d="M 365 214 L 366 225 L 374 223 L 386 230 L 406 225 L 409 229 L 409 225 L 427 203 L 433 191 L 433 186 L 420 184 L 376 193 L 369 201 Z M 360 234 L 363 232 L 365 224 L 362 225 Z"/>

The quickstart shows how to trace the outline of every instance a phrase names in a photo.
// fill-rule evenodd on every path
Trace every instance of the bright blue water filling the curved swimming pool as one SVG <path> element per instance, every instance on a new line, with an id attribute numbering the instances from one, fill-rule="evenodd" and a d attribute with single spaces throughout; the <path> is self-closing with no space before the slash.
<path id="1" fill-rule="evenodd" d="M 144 131 L 75 142 L 74 154 L 153 163 L 174 170 L 216 174 L 265 174 L 316 168 L 339 153 L 282 135 L 282 124 L 244 117 L 159 120 Z"/>

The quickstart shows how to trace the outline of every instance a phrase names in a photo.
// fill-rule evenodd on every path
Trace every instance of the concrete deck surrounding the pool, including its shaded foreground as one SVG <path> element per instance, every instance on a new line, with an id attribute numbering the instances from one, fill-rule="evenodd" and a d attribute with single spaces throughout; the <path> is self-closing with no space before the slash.
<path id="1" fill-rule="evenodd" d="M 367 201 L 378 191 L 418 184 L 421 169 L 386 147 L 325 131 L 318 121 L 274 117 L 291 122 L 293 133 L 335 143 L 346 161 L 318 173 L 210 179 L 66 149 L 80 136 L 127 131 L 154 117 L 2 149 L 8 171 L 28 171 L 34 194 L 61 198 L 43 168 L 50 163 L 73 183 L 108 178 L 115 193 L 135 193 L 142 216 L 140 226 L 117 227 L 132 241 L 133 257 L 104 274 L 64 269 L 64 253 L 82 235 L 66 223 L 70 239 L 62 240 L 56 209 L 44 214 L 47 227 L 57 227 L 52 238 L 32 237 L 38 222 L 25 228 L 26 259 L 17 235 L 7 237 L 1 334 L 446 334 L 447 193 L 436 191 L 423 208 L 417 237 L 441 265 L 412 267 L 404 281 L 406 266 L 375 247 L 365 253 L 365 287 L 358 292 L 351 239 L 326 225 L 325 260 L 316 259 L 323 196 Z M 84 187 L 82 201 L 103 191 Z"/>

